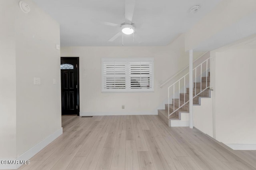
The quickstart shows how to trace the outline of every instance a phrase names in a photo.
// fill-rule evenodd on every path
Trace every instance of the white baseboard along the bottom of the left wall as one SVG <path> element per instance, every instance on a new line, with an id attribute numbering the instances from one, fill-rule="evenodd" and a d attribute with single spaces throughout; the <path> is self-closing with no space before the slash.
<path id="1" fill-rule="evenodd" d="M 24 154 L 20 155 L 18 158 L 1 158 L 0 159 L 0 170 L 12 170 L 12 169 L 18 169 L 22 164 L 1 164 L 1 161 L 5 160 L 12 160 L 12 161 L 27 161 L 30 158 L 32 158 L 35 154 L 37 154 L 40 150 L 42 150 L 45 146 L 50 144 L 50 142 L 54 141 L 56 138 L 58 138 L 63 133 L 62 128 L 30 148 L 28 151 L 26 151 Z"/>

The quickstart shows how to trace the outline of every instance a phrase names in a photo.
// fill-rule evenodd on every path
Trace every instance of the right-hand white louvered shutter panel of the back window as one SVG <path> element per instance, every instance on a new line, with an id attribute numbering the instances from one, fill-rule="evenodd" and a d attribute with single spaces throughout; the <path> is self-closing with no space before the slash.
<path id="1" fill-rule="evenodd" d="M 131 91 L 153 91 L 152 60 L 129 62 L 129 89 Z"/>

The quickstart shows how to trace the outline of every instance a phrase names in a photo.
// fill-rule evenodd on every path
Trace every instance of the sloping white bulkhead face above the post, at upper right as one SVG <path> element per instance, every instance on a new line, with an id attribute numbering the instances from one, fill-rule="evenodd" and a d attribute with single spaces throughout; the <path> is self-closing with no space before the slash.
<path id="1" fill-rule="evenodd" d="M 256 11 L 255 0 L 222 0 L 197 22 L 185 36 L 185 49 L 194 49 L 218 32 Z M 238 28 L 239 29 L 239 28 Z"/>

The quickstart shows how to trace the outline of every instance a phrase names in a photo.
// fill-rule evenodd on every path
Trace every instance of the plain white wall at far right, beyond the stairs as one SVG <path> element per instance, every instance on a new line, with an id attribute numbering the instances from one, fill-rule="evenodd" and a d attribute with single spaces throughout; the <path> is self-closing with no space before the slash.
<path id="1" fill-rule="evenodd" d="M 255 56 L 256 49 L 227 49 L 215 53 L 212 85 L 216 140 L 225 144 L 256 146 Z"/>

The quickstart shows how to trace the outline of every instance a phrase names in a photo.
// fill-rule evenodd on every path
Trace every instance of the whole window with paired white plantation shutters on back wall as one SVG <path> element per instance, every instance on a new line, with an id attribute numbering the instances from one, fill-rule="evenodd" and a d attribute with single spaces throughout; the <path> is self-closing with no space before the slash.
<path id="1" fill-rule="evenodd" d="M 102 58 L 102 91 L 154 91 L 154 58 Z"/>

